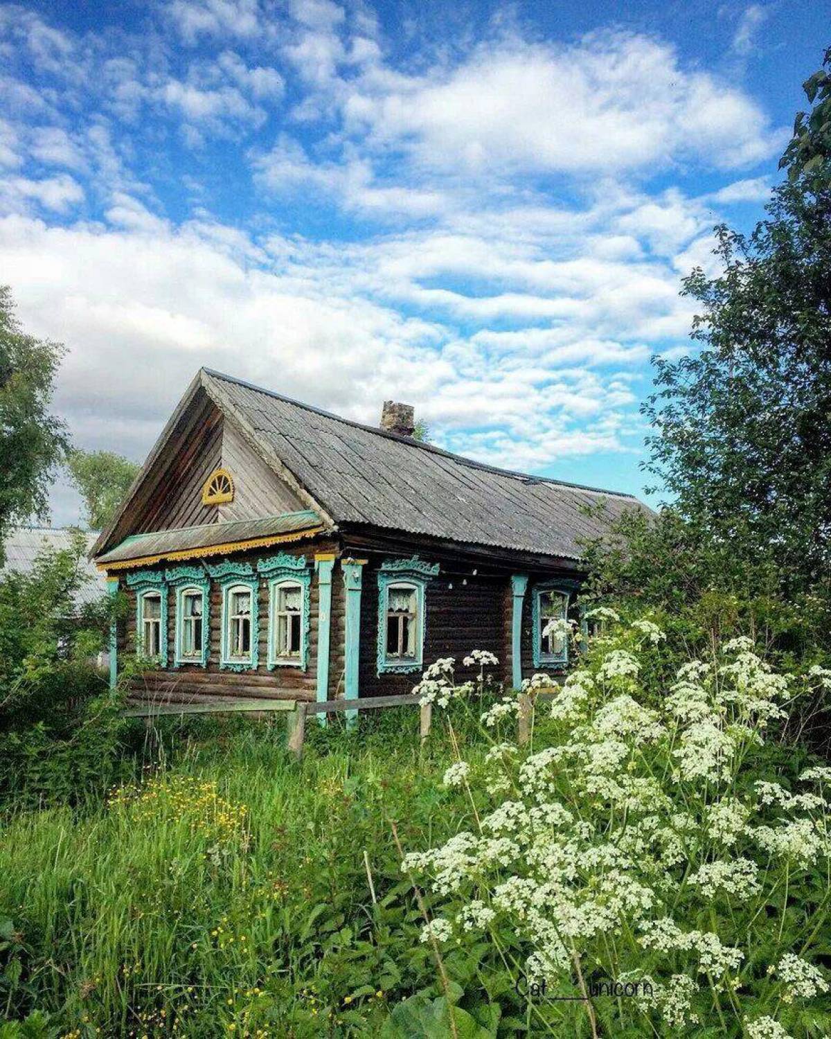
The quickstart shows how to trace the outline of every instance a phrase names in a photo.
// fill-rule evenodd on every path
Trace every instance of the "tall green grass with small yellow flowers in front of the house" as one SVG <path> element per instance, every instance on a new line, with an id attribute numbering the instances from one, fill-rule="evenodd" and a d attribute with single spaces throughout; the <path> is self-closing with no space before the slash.
<path id="1" fill-rule="evenodd" d="M 36 1008 L 78 1036 L 377 1034 L 393 1003 L 439 994 L 390 820 L 408 849 L 457 828 L 450 760 L 440 734 L 420 748 L 406 710 L 357 736 L 313 726 L 300 765 L 282 722 L 171 724 L 106 803 L 11 812 L 0 1019 Z"/>

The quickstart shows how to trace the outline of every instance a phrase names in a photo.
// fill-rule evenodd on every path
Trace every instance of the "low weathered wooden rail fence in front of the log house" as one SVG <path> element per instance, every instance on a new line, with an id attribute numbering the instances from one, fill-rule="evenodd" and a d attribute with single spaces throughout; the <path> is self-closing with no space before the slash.
<path id="1" fill-rule="evenodd" d="M 551 694 L 540 693 L 536 697 L 519 696 L 519 713 L 516 725 L 516 742 L 528 743 L 534 717 L 534 699 L 549 699 Z M 305 720 L 310 715 L 338 714 L 349 711 L 380 711 L 384 708 L 417 707 L 419 708 L 419 736 L 424 745 L 430 735 L 433 718 L 431 703 L 421 703 L 418 696 L 365 696 L 354 700 L 266 700 L 237 699 L 223 701 L 211 700 L 204 703 L 146 703 L 140 707 L 130 707 L 124 712 L 126 717 L 144 718 L 148 724 L 160 715 L 192 715 L 192 714 L 225 714 L 248 712 L 267 714 L 280 712 L 288 714 L 287 743 L 289 750 L 299 761 L 303 755 L 305 742 Z"/>

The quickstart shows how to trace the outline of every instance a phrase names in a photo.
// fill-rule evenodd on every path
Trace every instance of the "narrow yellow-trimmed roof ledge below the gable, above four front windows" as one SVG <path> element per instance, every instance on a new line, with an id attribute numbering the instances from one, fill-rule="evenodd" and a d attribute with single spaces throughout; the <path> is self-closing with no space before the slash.
<path id="1" fill-rule="evenodd" d="M 284 535 L 303 532 L 311 533 L 322 527 L 316 512 L 303 509 L 300 512 L 282 512 L 279 515 L 262 520 L 236 520 L 232 523 L 209 523 L 198 527 L 180 527 L 149 534 L 134 534 L 125 538 L 110 552 L 99 556 L 96 562 L 102 566 L 126 563 L 136 559 L 164 559 L 210 556 L 242 542 L 262 541 Z M 212 551 L 213 550 L 213 551 Z"/>

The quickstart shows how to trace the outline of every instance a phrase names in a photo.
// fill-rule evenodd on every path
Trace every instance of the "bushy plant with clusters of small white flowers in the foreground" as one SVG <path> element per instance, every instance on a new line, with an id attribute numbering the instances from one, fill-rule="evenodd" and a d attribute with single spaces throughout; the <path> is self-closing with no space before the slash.
<path id="1" fill-rule="evenodd" d="M 606 625 L 562 686 L 526 684 L 551 700 L 528 747 L 506 698 L 481 715 L 490 751 L 447 770 L 467 825 L 402 863 L 434 898 L 422 940 L 498 949 L 488 988 L 526 995 L 534 1030 L 825 1034 L 831 768 L 800 771 L 796 748 L 775 772 L 770 732 L 831 671 L 777 673 L 738 638 L 661 685 L 663 631 Z M 425 701 L 464 702 L 452 666 Z"/>

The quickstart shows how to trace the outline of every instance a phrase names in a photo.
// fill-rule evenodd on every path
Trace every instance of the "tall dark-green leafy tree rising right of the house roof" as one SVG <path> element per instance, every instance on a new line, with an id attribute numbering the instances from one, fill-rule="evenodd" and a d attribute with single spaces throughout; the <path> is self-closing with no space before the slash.
<path id="1" fill-rule="evenodd" d="M 685 282 L 703 349 L 654 361 L 647 469 L 733 568 L 761 558 L 786 595 L 827 593 L 831 167 L 776 188 L 768 214 L 747 238 L 718 228 L 723 273 Z"/>

